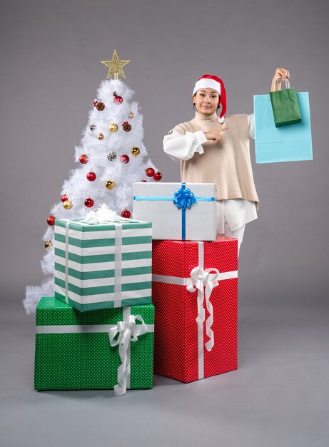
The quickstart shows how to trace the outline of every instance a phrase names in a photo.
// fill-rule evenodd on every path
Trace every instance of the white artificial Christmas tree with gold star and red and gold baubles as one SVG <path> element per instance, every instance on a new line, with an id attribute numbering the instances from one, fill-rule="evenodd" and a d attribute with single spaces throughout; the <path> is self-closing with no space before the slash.
<path id="1" fill-rule="evenodd" d="M 43 236 L 46 254 L 41 268 L 47 276 L 41 286 L 27 286 L 24 307 L 35 311 L 41 296 L 54 296 L 54 221 L 83 219 L 93 209 L 106 204 L 123 217 L 131 217 L 133 182 L 161 180 L 161 173 L 148 159 L 143 145 L 143 117 L 138 103 L 131 102 L 134 92 L 118 79 L 126 78 L 116 50 L 102 81 L 97 99 L 89 113 L 81 146 L 76 147 L 76 169 L 64 181 L 61 201 L 51 209 L 49 224 Z"/>

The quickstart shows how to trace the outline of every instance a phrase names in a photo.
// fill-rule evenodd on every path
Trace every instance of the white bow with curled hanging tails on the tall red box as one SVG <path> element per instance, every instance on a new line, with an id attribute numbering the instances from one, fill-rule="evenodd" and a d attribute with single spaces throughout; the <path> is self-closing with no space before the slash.
<path id="1" fill-rule="evenodd" d="M 216 273 L 211 273 L 215 271 Z M 191 278 L 188 278 L 188 285 L 186 288 L 189 292 L 195 292 L 198 290 L 198 316 L 196 317 L 196 322 L 203 324 L 206 319 L 206 312 L 203 308 L 203 301 L 206 298 L 206 307 L 209 312 L 209 316 L 206 321 L 206 334 L 210 338 L 207 343 L 205 343 L 207 351 L 211 351 L 213 345 L 215 344 L 213 330 L 211 326 L 213 325 L 213 305 L 210 301 L 211 292 L 214 287 L 218 286 L 219 271 L 217 268 L 206 268 L 194 267 L 191 270 Z"/>

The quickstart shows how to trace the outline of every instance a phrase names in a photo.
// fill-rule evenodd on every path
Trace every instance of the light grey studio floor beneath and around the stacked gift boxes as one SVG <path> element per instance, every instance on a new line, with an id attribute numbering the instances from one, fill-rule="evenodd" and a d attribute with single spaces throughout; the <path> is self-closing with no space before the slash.
<path id="1" fill-rule="evenodd" d="M 238 371 L 121 398 L 34 391 L 34 318 L 17 299 L 0 318 L 1 447 L 329 445 L 328 307 L 245 300 Z"/>

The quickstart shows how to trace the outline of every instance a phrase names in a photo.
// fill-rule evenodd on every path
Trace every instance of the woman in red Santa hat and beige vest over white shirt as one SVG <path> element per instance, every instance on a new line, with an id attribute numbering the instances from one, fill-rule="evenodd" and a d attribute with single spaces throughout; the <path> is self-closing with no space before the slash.
<path id="1" fill-rule="evenodd" d="M 289 76 L 288 70 L 277 69 L 271 91 Z M 196 116 L 168 132 L 163 150 L 181 161 L 181 181 L 216 183 L 217 234 L 237 238 L 240 249 L 246 224 L 257 219 L 258 209 L 249 151 L 249 139 L 255 138 L 253 114 L 224 117 L 225 86 L 209 74 L 196 82 L 193 104 Z"/>

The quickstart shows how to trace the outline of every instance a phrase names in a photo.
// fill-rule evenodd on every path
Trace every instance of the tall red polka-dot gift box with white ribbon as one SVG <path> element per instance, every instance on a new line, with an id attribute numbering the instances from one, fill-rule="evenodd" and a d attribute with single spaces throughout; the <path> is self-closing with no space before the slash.
<path id="1" fill-rule="evenodd" d="M 182 382 L 238 368 L 238 241 L 153 241 L 154 373 Z"/>

